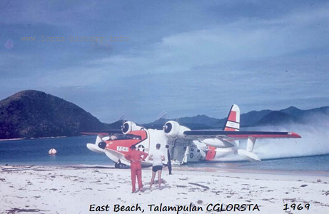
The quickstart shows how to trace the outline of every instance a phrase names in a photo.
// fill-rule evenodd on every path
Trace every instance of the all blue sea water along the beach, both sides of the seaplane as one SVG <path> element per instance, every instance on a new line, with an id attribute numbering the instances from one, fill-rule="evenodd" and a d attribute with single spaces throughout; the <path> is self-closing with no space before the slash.
<path id="1" fill-rule="evenodd" d="M 88 150 L 86 143 L 94 143 L 95 140 L 96 136 L 78 136 L 0 141 L 0 165 L 114 165 L 104 154 Z M 48 151 L 51 148 L 56 148 L 56 156 L 49 156 Z M 269 159 L 260 162 L 207 161 L 180 167 L 329 172 L 329 155 Z"/>

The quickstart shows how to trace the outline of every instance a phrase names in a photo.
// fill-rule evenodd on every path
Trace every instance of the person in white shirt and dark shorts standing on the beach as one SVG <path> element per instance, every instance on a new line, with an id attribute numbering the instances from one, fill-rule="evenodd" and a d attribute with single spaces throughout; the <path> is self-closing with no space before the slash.
<path id="1" fill-rule="evenodd" d="M 154 151 L 150 156 L 150 160 L 153 161 L 150 189 L 152 189 L 154 178 L 156 178 L 156 172 L 158 172 L 158 188 L 161 188 L 161 173 L 163 167 L 162 161 L 165 161 L 166 158 L 163 155 L 163 152 L 160 151 L 160 147 L 161 147 L 160 143 L 156 144 L 156 151 Z"/>

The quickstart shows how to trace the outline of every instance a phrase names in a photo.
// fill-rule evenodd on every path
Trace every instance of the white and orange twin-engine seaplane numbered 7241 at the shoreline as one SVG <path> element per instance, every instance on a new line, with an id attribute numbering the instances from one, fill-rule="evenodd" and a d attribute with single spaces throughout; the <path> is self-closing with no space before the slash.
<path id="1" fill-rule="evenodd" d="M 109 133 L 120 133 L 112 138 Z M 135 145 L 140 151 L 152 153 L 156 144 L 161 144 L 163 153 L 173 163 L 186 164 L 199 161 L 221 161 L 223 156 L 236 153 L 247 161 L 260 161 L 253 153 L 255 142 L 264 138 L 301 138 L 297 133 L 278 131 L 240 131 L 240 108 L 234 104 L 228 113 L 223 130 L 191 130 L 176 121 L 167 121 L 163 130 L 144 128 L 132 121 L 126 121 L 121 131 L 98 133 L 95 143 L 88 143 L 89 150 L 105 155 L 114 161 L 116 168 L 130 165 L 124 158 Z M 240 148 L 239 141 L 247 141 L 246 148 Z M 151 166 L 146 158 L 143 167 Z"/>

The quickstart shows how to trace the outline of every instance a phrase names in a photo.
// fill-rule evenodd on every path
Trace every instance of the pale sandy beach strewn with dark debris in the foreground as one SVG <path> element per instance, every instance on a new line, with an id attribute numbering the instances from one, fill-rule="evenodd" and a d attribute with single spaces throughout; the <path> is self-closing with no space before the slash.
<path id="1" fill-rule="evenodd" d="M 131 193 L 130 169 L 0 169 L 0 213 L 329 213 L 329 173 L 173 168 L 150 190 L 144 168 L 145 191 Z"/>

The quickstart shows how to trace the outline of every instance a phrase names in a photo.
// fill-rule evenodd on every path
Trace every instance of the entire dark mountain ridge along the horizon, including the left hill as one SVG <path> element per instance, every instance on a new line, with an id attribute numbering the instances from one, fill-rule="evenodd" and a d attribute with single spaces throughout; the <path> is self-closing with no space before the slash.
<path id="1" fill-rule="evenodd" d="M 269 109 L 241 114 L 241 128 L 252 126 L 280 126 L 284 123 L 308 123 L 314 116 L 329 116 L 329 107 L 301 110 L 290 106 L 279 111 Z M 160 118 L 144 123 L 145 128 L 162 129 L 169 121 Z M 223 128 L 226 118 L 212 118 L 204 114 L 173 119 L 191 129 Z M 51 94 L 26 90 L 0 101 L 0 138 L 39 138 L 76 136 L 80 131 L 120 129 L 123 121 L 102 123 L 91 113 L 74 103 Z"/>

